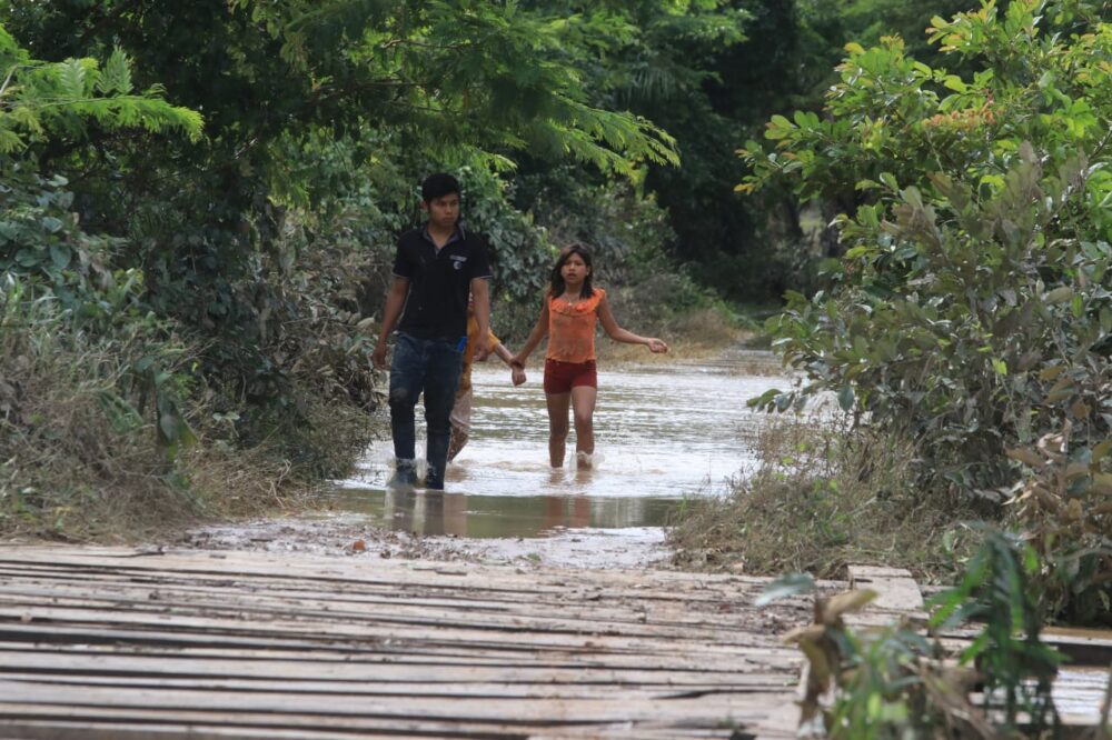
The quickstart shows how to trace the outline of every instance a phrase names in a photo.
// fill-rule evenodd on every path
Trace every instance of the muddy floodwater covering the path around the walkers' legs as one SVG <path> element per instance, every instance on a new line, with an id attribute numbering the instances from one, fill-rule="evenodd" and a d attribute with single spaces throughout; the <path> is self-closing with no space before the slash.
<path id="1" fill-rule="evenodd" d="M 515 388 L 502 362 L 478 363 L 470 441 L 448 468 L 446 492 L 387 491 L 386 439 L 368 450 L 356 477 L 339 482 L 337 506 L 398 531 L 467 538 L 658 528 L 685 498 L 725 494 L 755 467 L 747 442 L 764 416 L 745 403 L 783 387 L 778 372 L 772 356 L 749 351 L 705 362 L 604 364 L 594 467 L 553 470 L 539 369 Z M 417 412 L 420 454 L 420 404 Z M 568 450 L 574 459 L 574 430 Z"/>

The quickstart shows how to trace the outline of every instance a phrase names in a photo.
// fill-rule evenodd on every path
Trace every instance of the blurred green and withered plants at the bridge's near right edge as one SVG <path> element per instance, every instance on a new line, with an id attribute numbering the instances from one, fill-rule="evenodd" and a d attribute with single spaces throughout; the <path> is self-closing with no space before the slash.
<path id="1" fill-rule="evenodd" d="M 867 589 L 815 599 L 814 623 L 785 637 L 808 661 L 801 737 L 1061 737 L 1051 681 L 1063 656 L 1040 640 L 1039 558 L 1019 538 L 984 534 L 961 582 L 926 604 L 926 636 L 907 619 L 847 626 L 876 597 Z M 812 586 L 810 576 L 785 577 L 762 602 Z M 959 627 L 972 637 L 955 656 L 940 638 Z"/>

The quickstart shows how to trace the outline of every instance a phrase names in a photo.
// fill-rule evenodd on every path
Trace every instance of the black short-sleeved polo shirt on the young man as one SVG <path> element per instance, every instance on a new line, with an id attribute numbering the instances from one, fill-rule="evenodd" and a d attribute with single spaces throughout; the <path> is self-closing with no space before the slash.
<path id="1" fill-rule="evenodd" d="M 473 278 L 489 278 L 486 241 L 456 228 L 436 251 L 426 228 L 401 234 L 394 274 L 409 279 L 409 297 L 398 331 L 420 339 L 467 336 L 467 294 Z"/>

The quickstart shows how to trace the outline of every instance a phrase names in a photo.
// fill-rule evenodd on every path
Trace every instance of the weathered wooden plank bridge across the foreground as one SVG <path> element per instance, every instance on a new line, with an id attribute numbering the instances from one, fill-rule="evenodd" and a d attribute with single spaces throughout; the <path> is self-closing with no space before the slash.
<path id="1" fill-rule="evenodd" d="M 764 583 L 0 546 L 0 738 L 791 738 Z"/>

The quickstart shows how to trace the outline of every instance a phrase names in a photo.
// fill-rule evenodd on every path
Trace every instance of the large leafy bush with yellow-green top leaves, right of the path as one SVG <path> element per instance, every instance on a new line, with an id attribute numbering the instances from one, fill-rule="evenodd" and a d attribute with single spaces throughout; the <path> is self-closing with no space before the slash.
<path id="1" fill-rule="evenodd" d="M 1112 24 L 1106 3 L 985 2 L 930 29 L 980 68 L 952 74 L 900 39 L 848 44 L 823 117 L 774 117 L 742 188 L 802 199 L 855 187 L 825 289 L 790 294 L 774 347 L 806 376 L 754 404 L 837 396 L 919 440 L 924 487 L 994 502 L 1005 450 L 1074 424 L 1112 429 Z"/>

